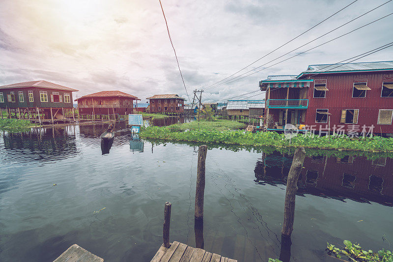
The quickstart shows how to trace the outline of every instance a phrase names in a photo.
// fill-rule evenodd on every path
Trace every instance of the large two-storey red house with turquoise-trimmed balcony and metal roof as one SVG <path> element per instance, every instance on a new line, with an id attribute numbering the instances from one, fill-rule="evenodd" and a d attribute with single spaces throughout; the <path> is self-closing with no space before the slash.
<path id="1" fill-rule="evenodd" d="M 309 65 L 298 76 L 268 76 L 259 86 L 266 119 L 273 116 L 268 130 L 290 123 L 316 131 L 373 125 L 374 133 L 393 133 L 393 61 Z"/>

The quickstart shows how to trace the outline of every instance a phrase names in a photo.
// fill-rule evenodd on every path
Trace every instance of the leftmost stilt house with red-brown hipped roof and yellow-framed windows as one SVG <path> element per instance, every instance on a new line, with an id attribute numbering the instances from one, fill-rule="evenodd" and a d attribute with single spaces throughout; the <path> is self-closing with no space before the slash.
<path id="1" fill-rule="evenodd" d="M 9 117 L 36 119 L 39 112 L 41 120 L 63 120 L 72 111 L 72 92 L 76 91 L 45 80 L 7 84 L 0 86 L 0 108 L 6 108 Z"/>

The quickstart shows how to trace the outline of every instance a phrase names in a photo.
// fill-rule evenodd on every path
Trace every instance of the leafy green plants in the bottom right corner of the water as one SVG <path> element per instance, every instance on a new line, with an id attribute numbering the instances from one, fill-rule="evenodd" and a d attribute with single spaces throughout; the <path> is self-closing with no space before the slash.
<path id="1" fill-rule="evenodd" d="M 393 262 L 393 254 L 389 250 L 382 249 L 377 253 L 365 251 L 359 244 L 352 244 L 349 240 L 344 240 L 344 245 L 341 249 L 328 243 L 326 251 L 328 255 L 340 260 L 342 256 L 346 256 L 351 262 Z"/>

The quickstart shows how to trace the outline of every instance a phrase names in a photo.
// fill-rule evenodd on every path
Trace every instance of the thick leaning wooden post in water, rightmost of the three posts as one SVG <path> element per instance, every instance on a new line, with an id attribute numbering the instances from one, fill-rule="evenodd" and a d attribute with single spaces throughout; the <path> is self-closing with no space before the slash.
<path id="1" fill-rule="evenodd" d="M 295 197 L 298 190 L 297 182 L 302 172 L 306 151 L 304 148 L 296 149 L 295 155 L 286 182 L 285 203 L 284 203 L 284 222 L 282 224 L 281 235 L 291 236 L 293 221 L 295 219 Z"/>

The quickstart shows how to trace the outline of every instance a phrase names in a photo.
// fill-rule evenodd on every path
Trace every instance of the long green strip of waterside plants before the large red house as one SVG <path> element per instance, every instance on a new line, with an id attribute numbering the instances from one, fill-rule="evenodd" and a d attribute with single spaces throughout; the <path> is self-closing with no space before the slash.
<path id="1" fill-rule="evenodd" d="M 216 125 L 216 127 L 215 127 Z M 141 130 L 140 136 L 173 141 L 191 141 L 203 143 L 225 143 L 248 146 L 274 146 L 276 148 L 305 147 L 310 149 L 337 149 L 365 152 L 393 152 L 393 138 L 380 136 L 351 139 L 348 136 L 307 136 L 298 134 L 291 140 L 277 132 L 246 132 L 229 131 L 236 129 L 240 123 L 235 121 L 218 120 L 214 122 L 194 121 L 187 124 L 169 127 L 147 127 Z M 239 127 L 237 127 L 239 128 Z M 290 144 L 289 144 L 290 143 Z"/>

